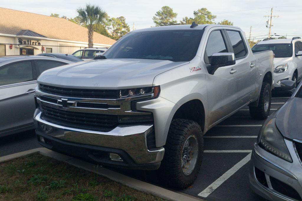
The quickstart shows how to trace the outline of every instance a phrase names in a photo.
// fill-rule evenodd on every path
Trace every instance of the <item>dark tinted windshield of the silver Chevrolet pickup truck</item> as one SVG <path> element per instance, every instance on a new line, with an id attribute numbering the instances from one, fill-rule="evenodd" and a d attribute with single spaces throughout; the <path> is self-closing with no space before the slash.
<path id="1" fill-rule="evenodd" d="M 204 30 L 156 30 L 125 35 L 103 56 L 107 59 L 191 61 Z"/>

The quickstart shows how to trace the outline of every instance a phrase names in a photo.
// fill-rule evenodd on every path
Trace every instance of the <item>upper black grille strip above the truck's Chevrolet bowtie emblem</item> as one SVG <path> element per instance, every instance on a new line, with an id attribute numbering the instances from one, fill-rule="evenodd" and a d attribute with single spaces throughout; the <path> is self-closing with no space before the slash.
<path id="1" fill-rule="evenodd" d="M 73 89 L 73 88 L 54 87 L 54 86 L 43 85 L 43 84 L 39 84 L 39 89 L 45 93 L 65 96 L 65 97 L 104 98 L 104 99 L 118 98 L 117 90 L 112 90 L 112 89 Z"/>

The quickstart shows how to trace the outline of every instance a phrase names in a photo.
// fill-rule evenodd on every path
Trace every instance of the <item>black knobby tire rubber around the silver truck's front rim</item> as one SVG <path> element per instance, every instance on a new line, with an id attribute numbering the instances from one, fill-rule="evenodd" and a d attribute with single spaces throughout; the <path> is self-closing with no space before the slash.
<path id="1" fill-rule="evenodd" d="M 182 171 L 182 150 L 186 139 L 194 135 L 198 141 L 198 157 L 191 174 Z M 172 188 L 185 189 L 196 179 L 204 152 L 201 127 L 191 120 L 174 119 L 171 122 L 165 148 L 165 155 L 158 170 L 163 183 Z"/>

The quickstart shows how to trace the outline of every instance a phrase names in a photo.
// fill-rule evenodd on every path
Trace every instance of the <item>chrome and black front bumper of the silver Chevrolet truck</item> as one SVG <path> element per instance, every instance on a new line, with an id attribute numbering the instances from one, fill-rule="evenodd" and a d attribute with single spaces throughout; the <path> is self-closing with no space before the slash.
<path id="1" fill-rule="evenodd" d="M 146 136 L 154 132 L 153 125 L 117 126 L 110 132 L 74 129 L 43 120 L 40 109 L 36 109 L 34 123 L 39 143 L 46 148 L 67 155 L 93 161 L 102 165 L 130 169 L 155 170 L 160 166 L 165 149 L 148 150 Z M 45 132 L 41 124 L 51 126 Z M 109 153 L 120 155 L 123 161 L 112 161 Z"/>

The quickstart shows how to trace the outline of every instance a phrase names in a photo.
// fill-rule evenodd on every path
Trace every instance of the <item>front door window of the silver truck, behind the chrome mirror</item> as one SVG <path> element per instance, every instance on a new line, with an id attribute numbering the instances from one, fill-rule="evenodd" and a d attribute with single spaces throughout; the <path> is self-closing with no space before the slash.
<path id="1" fill-rule="evenodd" d="M 220 30 L 215 30 L 210 33 L 207 41 L 206 52 L 204 54 L 204 62 L 211 63 L 211 57 L 214 53 L 224 53 L 226 51 L 226 44 L 223 40 Z"/>

